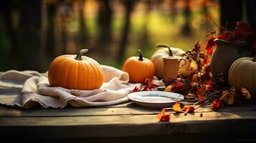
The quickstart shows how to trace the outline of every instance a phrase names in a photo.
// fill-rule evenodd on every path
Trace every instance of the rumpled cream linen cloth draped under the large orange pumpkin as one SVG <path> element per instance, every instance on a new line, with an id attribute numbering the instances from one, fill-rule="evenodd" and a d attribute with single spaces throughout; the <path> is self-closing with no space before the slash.
<path id="1" fill-rule="evenodd" d="M 126 97 L 133 88 L 141 84 L 128 83 L 128 74 L 111 66 L 100 65 L 104 72 L 104 83 L 100 89 L 78 90 L 49 87 L 47 73 L 37 71 L 6 71 L 0 75 L 0 104 L 23 108 L 64 108 L 103 106 L 128 102 Z M 157 79 L 154 83 L 163 85 Z"/>

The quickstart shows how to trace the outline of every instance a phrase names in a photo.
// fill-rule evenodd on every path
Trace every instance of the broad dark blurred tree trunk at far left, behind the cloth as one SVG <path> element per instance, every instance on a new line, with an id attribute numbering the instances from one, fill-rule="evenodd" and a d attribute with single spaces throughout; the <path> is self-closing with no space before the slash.
<path id="1" fill-rule="evenodd" d="M 20 12 L 20 46 L 22 52 L 19 53 L 22 58 L 21 69 L 32 69 L 44 71 L 42 67 L 42 1 L 24 0 L 21 2 Z"/>

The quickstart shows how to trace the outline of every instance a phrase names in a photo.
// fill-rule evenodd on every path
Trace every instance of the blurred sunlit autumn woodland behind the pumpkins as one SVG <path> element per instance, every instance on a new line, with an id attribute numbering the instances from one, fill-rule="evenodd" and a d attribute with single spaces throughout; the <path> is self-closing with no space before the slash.
<path id="1" fill-rule="evenodd" d="M 219 32 L 214 0 L 42 0 L 1 2 L 0 71 L 47 71 L 61 54 L 86 56 L 121 68 L 138 49 L 150 58 L 156 44 L 190 49 Z M 5 4 L 5 5 L 4 5 Z"/>

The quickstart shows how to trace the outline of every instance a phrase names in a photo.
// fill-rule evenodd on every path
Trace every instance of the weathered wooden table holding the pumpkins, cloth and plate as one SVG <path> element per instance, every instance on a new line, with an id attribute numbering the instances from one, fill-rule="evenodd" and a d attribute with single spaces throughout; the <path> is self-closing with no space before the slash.
<path id="1" fill-rule="evenodd" d="M 1 106 L 0 142 L 256 142 L 256 104 L 224 107 L 219 112 L 204 109 L 203 117 L 200 108 L 186 116 L 168 110 L 171 122 L 158 122 L 160 110 L 131 102 L 65 109 Z"/>

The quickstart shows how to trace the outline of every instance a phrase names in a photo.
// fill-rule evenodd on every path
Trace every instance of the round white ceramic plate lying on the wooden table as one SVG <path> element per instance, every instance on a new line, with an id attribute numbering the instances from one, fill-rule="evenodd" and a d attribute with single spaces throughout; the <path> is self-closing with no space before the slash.
<path id="1" fill-rule="evenodd" d="M 176 101 L 184 99 L 181 94 L 158 91 L 133 92 L 127 97 L 138 105 L 152 108 L 171 107 Z"/>

